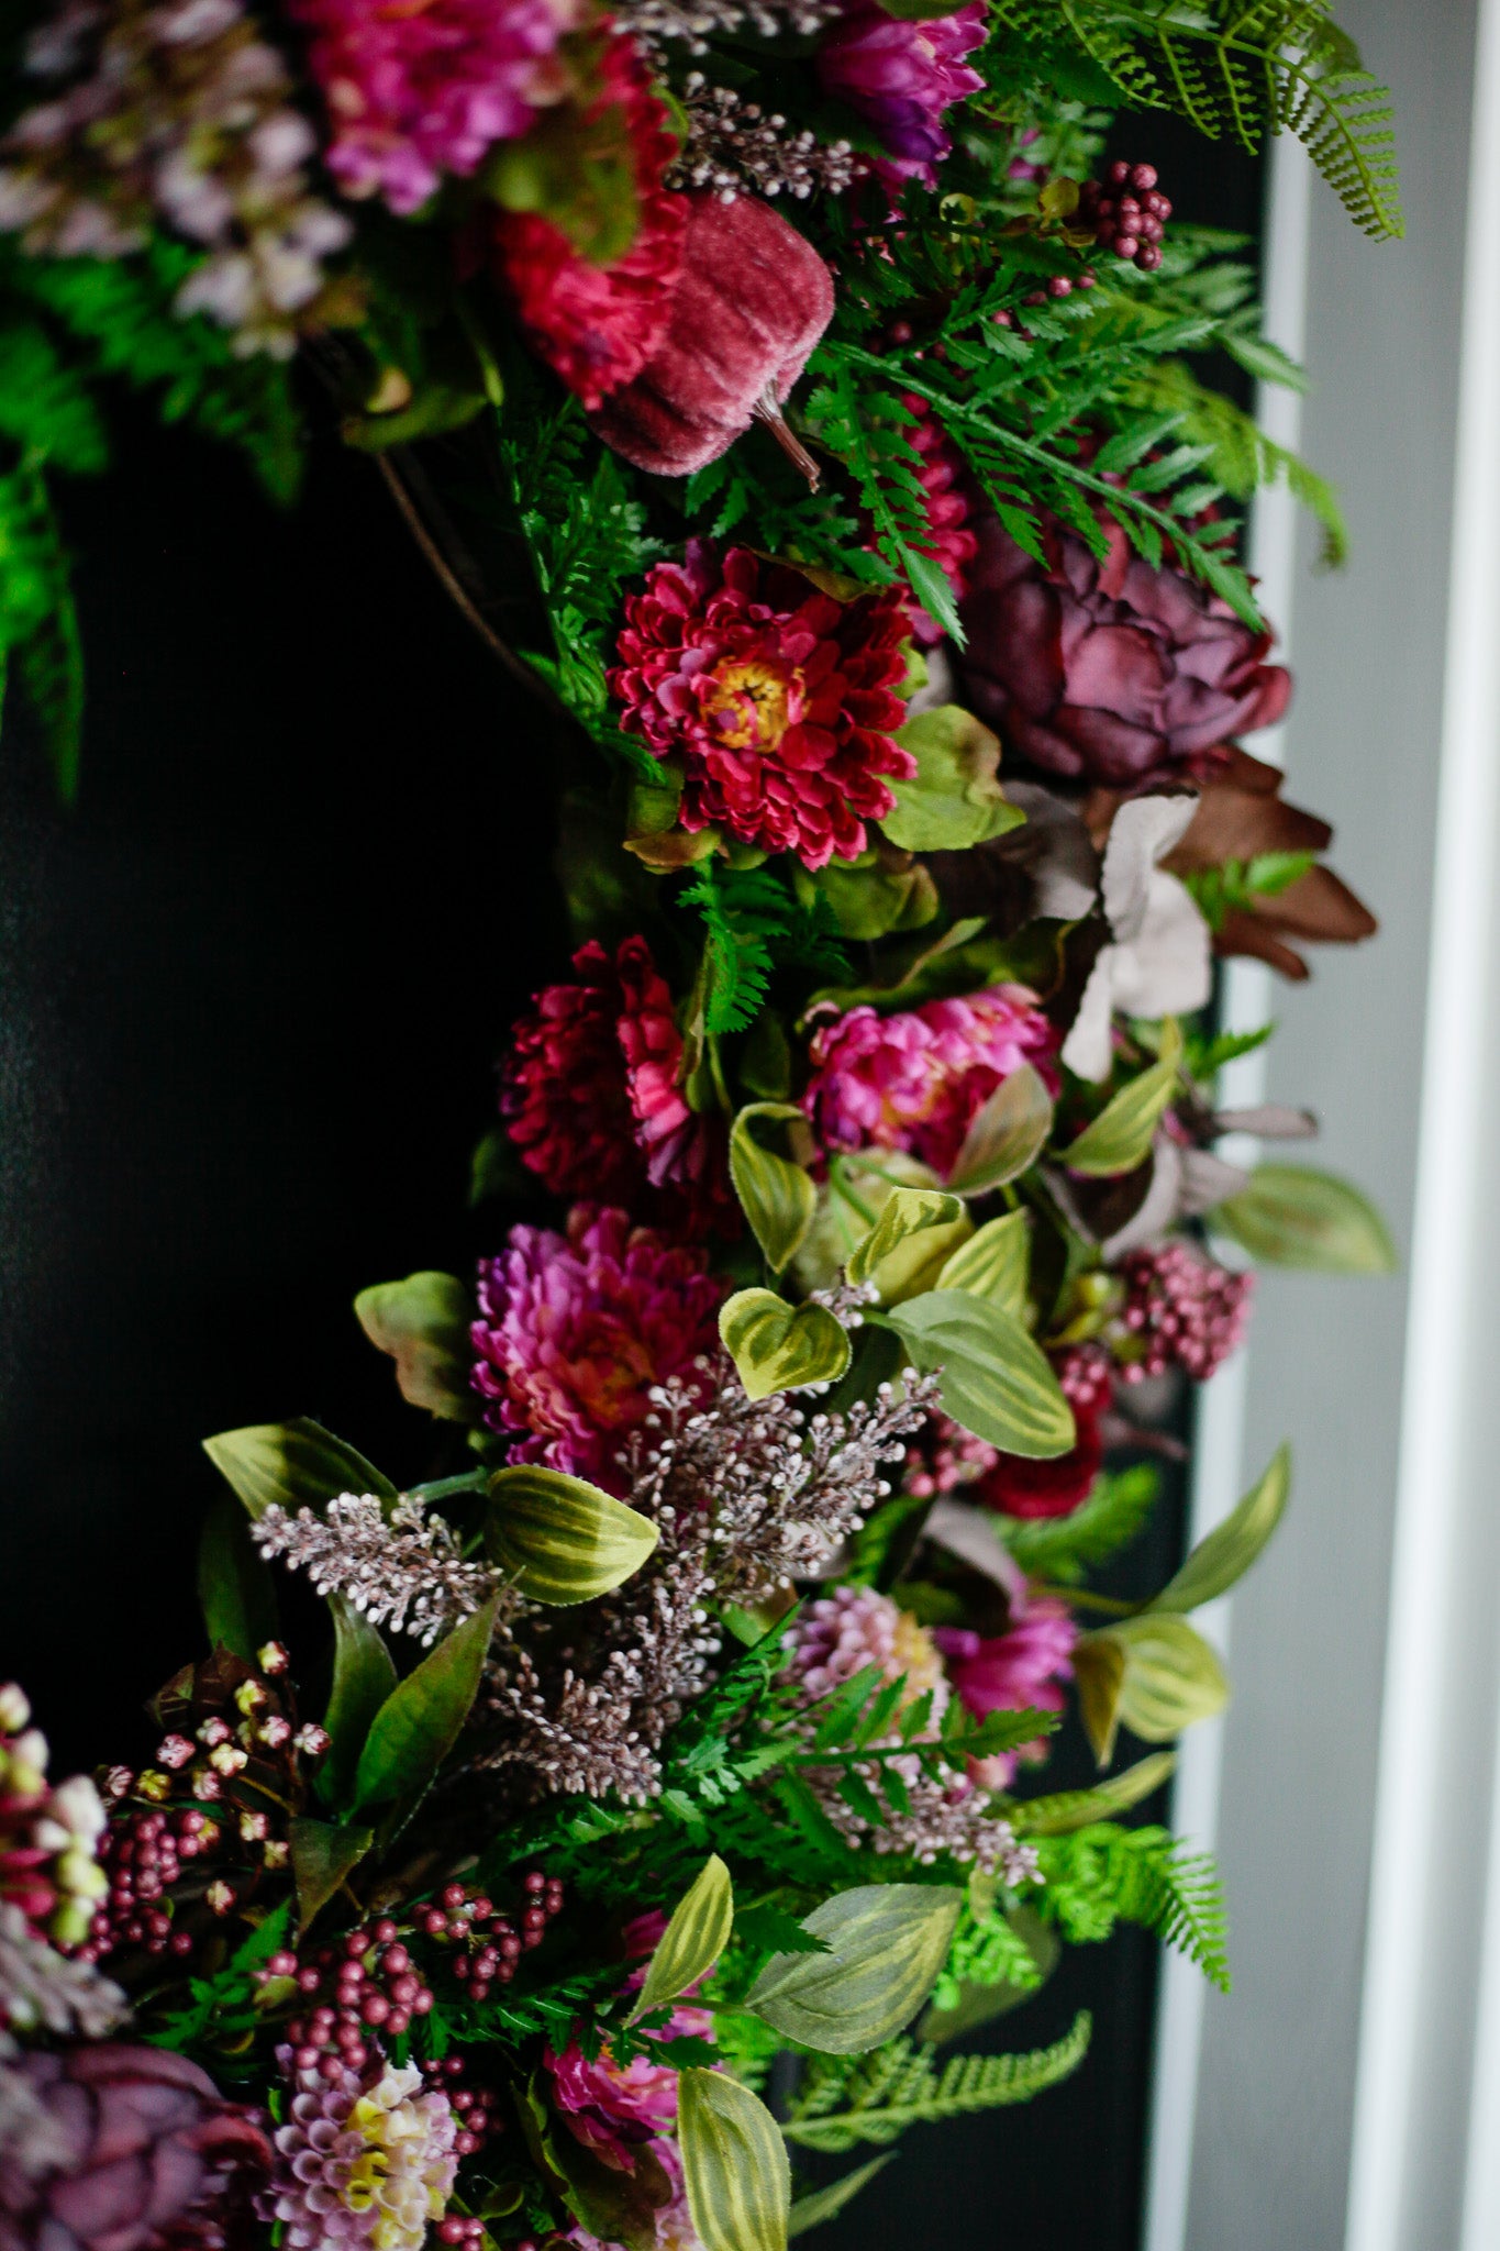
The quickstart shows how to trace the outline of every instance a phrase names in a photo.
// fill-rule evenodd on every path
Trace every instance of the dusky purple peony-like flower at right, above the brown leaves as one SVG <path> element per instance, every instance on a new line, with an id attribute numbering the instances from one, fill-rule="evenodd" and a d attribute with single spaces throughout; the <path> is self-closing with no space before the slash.
<path id="1" fill-rule="evenodd" d="M 960 606 L 969 700 L 1052 774 L 1111 788 L 1205 777 L 1230 736 L 1282 716 L 1291 675 L 1262 662 L 1268 633 L 1106 529 L 1102 563 L 1057 524 L 1034 563 L 992 513 L 978 520 Z"/>

